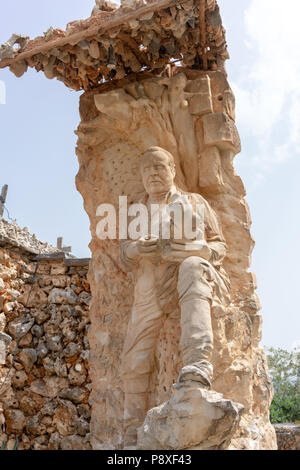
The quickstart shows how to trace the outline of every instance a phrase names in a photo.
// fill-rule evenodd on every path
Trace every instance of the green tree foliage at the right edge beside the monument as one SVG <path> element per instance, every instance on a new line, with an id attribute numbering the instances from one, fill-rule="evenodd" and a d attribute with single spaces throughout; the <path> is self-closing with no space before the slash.
<path id="1" fill-rule="evenodd" d="M 300 349 L 268 350 L 268 364 L 274 386 L 270 408 L 273 424 L 300 421 Z"/>

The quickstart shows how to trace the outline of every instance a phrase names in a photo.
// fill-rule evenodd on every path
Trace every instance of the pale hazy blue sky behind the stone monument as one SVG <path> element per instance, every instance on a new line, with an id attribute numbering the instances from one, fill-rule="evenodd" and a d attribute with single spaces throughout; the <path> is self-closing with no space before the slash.
<path id="1" fill-rule="evenodd" d="M 12 33 L 34 38 L 50 26 L 86 18 L 94 0 L 2 2 L 0 43 Z M 299 0 L 219 0 L 231 60 L 228 78 L 237 100 L 242 152 L 237 173 L 247 189 L 256 240 L 264 319 L 262 345 L 300 344 L 297 301 L 300 253 Z M 80 93 L 32 69 L 20 79 L 0 70 L 0 187 L 7 183 L 10 216 L 38 238 L 58 236 L 78 257 L 89 257 L 89 221 L 74 179 Z"/>

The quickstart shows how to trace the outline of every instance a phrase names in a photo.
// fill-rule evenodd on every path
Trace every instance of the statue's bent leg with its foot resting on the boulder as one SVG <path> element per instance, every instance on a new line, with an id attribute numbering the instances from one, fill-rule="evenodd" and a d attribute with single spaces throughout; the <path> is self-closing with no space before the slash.
<path id="1" fill-rule="evenodd" d="M 207 269 L 197 256 L 185 259 L 179 268 L 177 288 L 184 367 L 178 381 L 196 380 L 210 386 L 213 374 L 212 289 L 207 280 Z"/>

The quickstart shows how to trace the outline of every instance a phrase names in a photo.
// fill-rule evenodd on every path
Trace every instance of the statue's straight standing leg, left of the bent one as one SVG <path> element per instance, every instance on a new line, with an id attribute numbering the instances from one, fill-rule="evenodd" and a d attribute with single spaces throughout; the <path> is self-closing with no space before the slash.
<path id="1" fill-rule="evenodd" d="M 135 447 L 137 428 L 149 409 L 149 381 L 162 321 L 163 313 L 154 293 L 135 299 L 122 357 L 125 448 Z"/>

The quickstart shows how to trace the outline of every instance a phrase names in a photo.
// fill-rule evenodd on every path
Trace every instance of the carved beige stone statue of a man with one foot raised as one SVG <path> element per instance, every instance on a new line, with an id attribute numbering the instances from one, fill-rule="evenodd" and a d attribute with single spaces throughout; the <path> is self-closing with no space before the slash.
<path id="1" fill-rule="evenodd" d="M 125 444 L 134 448 L 137 428 L 148 411 L 149 379 L 155 367 L 155 348 L 166 315 L 180 306 L 183 368 L 178 384 L 197 381 L 211 386 L 213 332 L 211 304 L 228 298 L 228 280 L 221 268 L 226 245 L 217 216 L 199 194 L 186 193 L 174 185 L 173 156 L 160 147 L 149 148 L 141 157 L 145 187 L 143 204 L 165 207 L 184 205 L 196 211 L 203 205 L 203 239 L 162 240 L 151 236 L 121 243 L 121 261 L 133 272 L 134 304 L 122 357 L 125 391 Z M 157 207 L 157 206 L 156 206 Z"/>

